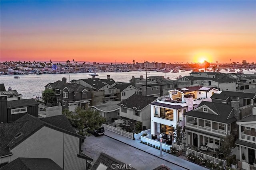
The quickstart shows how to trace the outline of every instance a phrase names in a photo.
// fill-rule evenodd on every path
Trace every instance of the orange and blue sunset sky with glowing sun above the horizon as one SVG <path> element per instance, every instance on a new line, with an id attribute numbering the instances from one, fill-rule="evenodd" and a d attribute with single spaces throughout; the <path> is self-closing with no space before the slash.
<path id="1" fill-rule="evenodd" d="M 256 1 L 0 5 L 1 62 L 256 62 Z"/>

